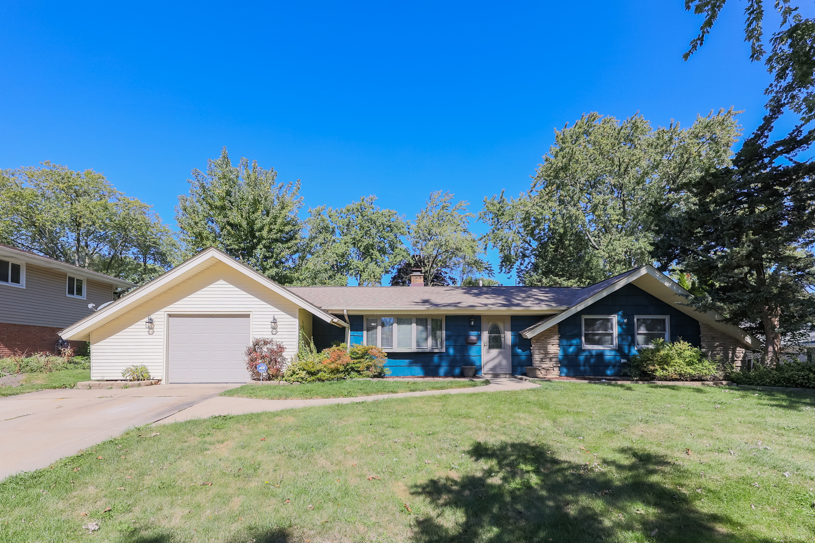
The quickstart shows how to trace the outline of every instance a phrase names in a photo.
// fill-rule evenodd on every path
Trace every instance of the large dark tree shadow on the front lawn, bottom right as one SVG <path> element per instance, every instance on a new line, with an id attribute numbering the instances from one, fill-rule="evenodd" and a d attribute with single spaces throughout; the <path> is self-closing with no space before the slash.
<path id="1" fill-rule="evenodd" d="M 744 541 L 726 515 L 698 510 L 701 495 L 667 488 L 661 455 L 621 449 L 627 462 L 568 462 L 527 443 L 475 444 L 481 466 L 459 480 L 434 479 L 411 493 L 438 504 L 414 524 L 412 541 Z M 690 474 L 688 474 L 690 476 Z M 693 489 L 688 488 L 693 491 Z M 652 537 L 654 530 L 657 534 Z M 751 541 L 762 540 L 753 537 Z"/>

